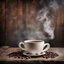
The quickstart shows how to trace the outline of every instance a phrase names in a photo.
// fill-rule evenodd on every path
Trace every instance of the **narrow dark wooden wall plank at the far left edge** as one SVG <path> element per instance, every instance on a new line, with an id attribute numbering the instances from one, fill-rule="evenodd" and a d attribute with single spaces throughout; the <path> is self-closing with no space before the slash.
<path id="1" fill-rule="evenodd" d="M 0 42 L 1 45 L 5 44 L 5 0 L 0 1 Z"/>

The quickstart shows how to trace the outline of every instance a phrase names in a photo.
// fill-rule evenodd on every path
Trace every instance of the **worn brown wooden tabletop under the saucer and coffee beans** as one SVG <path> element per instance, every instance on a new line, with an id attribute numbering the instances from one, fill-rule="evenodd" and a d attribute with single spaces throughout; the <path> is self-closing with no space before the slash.
<path id="1" fill-rule="evenodd" d="M 2 49 L 2 53 L 0 55 L 0 61 L 64 61 L 64 48 L 50 48 L 49 51 L 58 53 L 59 56 L 56 58 L 43 58 L 43 57 L 37 57 L 37 58 L 30 58 L 30 59 L 21 59 L 21 58 L 14 58 L 14 57 L 8 57 L 7 55 L 12 52 L 19 51 L 20 49 L 18 47 L 8 47 L 3 46 L 0 48 L 0 51 Z M 4 50 L 4 51 L 3 51 Z"/>

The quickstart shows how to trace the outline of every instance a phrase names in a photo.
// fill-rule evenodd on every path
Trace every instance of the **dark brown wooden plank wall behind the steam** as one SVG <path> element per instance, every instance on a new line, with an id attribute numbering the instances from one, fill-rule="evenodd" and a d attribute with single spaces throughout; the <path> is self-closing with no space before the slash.
<path id="1" fill-rule="evenodd" d="M 18 46 L 20 41 L 26 40 L 24 31 L 30 30 L 28 25 L 36 26 L 35 15 L 42 7 L 49 7 L 50 1 L 54 0 L 0 0 L 0 46 Z M 51 47 L 64 47 L 64 1 L 56 2 L 61 7 L 51 10 L 55 38 L 48 42 Z"/>

